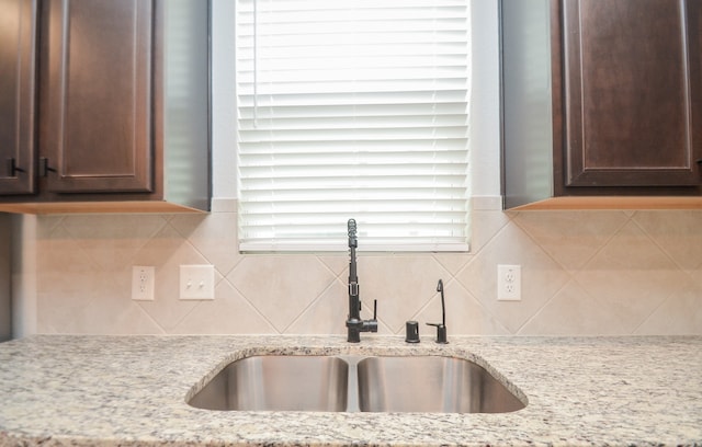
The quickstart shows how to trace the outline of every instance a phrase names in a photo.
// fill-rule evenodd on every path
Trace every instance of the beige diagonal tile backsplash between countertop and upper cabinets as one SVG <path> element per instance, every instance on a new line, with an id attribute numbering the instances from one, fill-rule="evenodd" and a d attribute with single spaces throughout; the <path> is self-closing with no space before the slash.
<path id="1" fill-rule="evenodd" d="M 360 253 L 363 314 L 377 299 L 381 333 L 430 340 L 442 278 L 450 335 L 702 334 L 702 211 L 476 210 L 472 245 Z M 36 257 L 42 333 L 346 332 L 348 254 L 241 255 L 235 213 L 42 216 Z M 216 299 L 180 301 L 201 263 Z M 522 265 L 521 301 L 497 301 L 497 264 Z M 132 265 L 156 266 L 155 301 L 131 299 Z"/>

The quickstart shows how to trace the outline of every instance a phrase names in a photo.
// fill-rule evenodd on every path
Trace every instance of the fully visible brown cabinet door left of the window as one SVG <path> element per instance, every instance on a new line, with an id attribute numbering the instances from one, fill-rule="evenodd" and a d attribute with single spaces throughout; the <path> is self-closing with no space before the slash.
<path id="1" fill-rule="evenodd" d="M 45 1 L 42 26 L 47 191 L 150 192 L 152 1 Z"/>

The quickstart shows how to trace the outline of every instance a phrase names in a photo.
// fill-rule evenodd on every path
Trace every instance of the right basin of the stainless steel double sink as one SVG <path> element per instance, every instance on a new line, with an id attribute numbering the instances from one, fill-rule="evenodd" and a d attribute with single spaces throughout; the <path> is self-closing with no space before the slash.
<path id="1" fill-rule="evenodd" d="M 369 357 L 358 364 L 369 412 L 507 413 L 524 404 L 482 366 L 462 358 Z"/>

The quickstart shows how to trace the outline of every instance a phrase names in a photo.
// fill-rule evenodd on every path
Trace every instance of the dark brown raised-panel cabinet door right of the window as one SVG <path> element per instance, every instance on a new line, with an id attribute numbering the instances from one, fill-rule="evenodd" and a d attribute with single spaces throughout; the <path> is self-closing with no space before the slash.
<path id="1" fill-rule="evenodd" d="M 566 186 L 702 183 L 699 0 L 564 0 Z"/>

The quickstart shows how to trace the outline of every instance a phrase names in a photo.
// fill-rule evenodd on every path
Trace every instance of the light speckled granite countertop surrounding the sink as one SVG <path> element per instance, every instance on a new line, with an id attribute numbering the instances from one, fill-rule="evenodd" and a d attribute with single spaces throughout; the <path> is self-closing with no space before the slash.
<path id="1" fill-rule="evenodd" d="M 501 414 L 207 411 L 203 378 L 257 354 L 474 359 Z M 702 446 L 702 337 L 38 335 L 0 344 L 0 446 Z"/>

